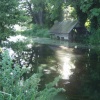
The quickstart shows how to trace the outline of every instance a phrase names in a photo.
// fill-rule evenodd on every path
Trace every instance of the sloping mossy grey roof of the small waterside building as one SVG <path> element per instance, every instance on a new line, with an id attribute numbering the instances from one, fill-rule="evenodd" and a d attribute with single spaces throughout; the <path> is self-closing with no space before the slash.
<path id="1" fill-rule="evenodd" d="M 50 33 L 70 33 L 77 23 L 77 20 L 70 19 L 62 22 L 56 22 L 50 29 Z"/>

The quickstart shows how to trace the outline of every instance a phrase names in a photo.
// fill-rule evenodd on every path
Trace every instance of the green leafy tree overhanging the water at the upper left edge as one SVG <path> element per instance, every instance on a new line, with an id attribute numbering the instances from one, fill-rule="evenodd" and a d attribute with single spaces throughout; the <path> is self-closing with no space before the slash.
<path id="1" fill-rule="evenodd" d="M 13 26 L 22 20 L 18 0 L 0 0 L 0 42 L 14 33 Z"/>

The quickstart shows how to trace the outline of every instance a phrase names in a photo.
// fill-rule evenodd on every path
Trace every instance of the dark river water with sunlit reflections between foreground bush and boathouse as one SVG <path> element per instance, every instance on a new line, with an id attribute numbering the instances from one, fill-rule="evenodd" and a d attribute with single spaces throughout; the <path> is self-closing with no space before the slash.
<path id="1" fill-rule="evenodd" d="M 83 95 L 80 90 L 83 89 L 85 80 L 93 90 L 100 91 L 98 85 L 100 78 L 98 77 L 97 83 L 92 78 L 90 79 L 94 72 L 96 72 L 96 77 L 99 76 L 100 53 L 90 49 L 84 50 L 78 46 L 69 48 L 37 43 L 22 44 L 20 42 L 14 44 L 7 42 L 7 44 L 10 44 L 8 50 L 14 64 L 19 63 L 22 68 L 25 66 L 29 68 L 24 78 L 29 78 L 33 73 L 42 69 L 43 76 L 40 83 L 42 85 L 39 89 L 43 89 L 46 83 L 53 81 L 55 77 L 60 75 L 61 79 L 56 87 L 65 88 L 67 96 L 71 97 L 70 100 Z M 91 83 L 88 80 L 91 80 Z M 85 84 L 87 85 L 87 83 Z"/>

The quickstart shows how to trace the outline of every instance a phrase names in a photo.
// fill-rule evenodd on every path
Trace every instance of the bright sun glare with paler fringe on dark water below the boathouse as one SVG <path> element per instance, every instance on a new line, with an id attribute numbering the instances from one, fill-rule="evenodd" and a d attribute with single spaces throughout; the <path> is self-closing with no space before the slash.
<path id="1" fill-rule="evenodd" d="M 51 49 L 55 51 L 56 59 L 58 60 L 58 70 L 62 79 L 68 80 L 75 69 L 75 62 L 81 58 L 81 55 L 74 54 L 74 49 L 68 47 L 52 46 Z"/>

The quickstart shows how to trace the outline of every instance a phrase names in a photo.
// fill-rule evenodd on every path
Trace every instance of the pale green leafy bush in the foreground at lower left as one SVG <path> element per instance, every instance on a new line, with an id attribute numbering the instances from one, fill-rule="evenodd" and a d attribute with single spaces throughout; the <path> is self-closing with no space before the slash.
<path id="1" fill-rule="evenodd" d="M 14 64 L 8 52 L 2 53 L 0 62 L 0 100 L 53 100 L 53 97 L 63 89 L 55 88 L 59 78 L 46 85 L 39 91 L 41 73 L 34 73 L 30 78 L 24 79 L 23 74 L 29 71 Z"/>

